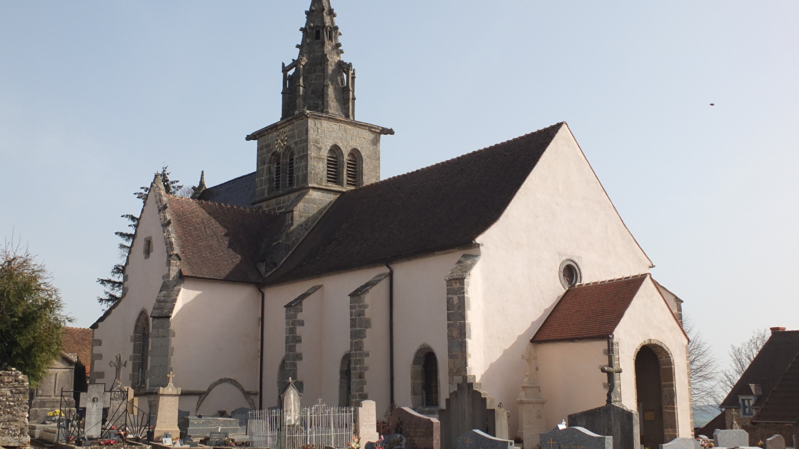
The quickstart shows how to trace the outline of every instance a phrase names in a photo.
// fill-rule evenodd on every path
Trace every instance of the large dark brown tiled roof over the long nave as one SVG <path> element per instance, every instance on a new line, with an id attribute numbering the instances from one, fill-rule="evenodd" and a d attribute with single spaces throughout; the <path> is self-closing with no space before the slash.
<path id="1" fill-rule="evenodd" d="M 499 219 L 563 125 L 343 193 L 267 282 L 471 243 Z"/>

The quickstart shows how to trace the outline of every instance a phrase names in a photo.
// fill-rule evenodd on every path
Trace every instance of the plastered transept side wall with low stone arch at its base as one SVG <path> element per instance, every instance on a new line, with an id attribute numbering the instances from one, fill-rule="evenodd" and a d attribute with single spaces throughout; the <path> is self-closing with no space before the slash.
<path id="1" fill-rule="evenodd" d="M 230 378 L 246 391 L 257 391 L 259 321 L 256 286 L 186 278 L 171 320 L 175 386 L 204 391 L 217 379 Z M 181 396 L 181 410 L 193 414 L 197 398 Z M 257 407 L 258 396 L 252 399 Z M 198 412 L 216 415 L 238 407 L 249 406 L 236 387 L 225 383 L 209 394 Z"/>

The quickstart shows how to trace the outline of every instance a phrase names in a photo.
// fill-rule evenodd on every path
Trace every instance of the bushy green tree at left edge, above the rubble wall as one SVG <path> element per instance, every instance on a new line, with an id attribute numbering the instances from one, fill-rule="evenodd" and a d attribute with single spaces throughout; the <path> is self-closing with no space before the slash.
<path id="1" fill-rule="evenodd" d="M 58 288 L 50 273 L 26 249 L 0 248 L 0 369 L 17 368 L 32 387 L 44 378 L 62 348 L 62 313 Z"/>

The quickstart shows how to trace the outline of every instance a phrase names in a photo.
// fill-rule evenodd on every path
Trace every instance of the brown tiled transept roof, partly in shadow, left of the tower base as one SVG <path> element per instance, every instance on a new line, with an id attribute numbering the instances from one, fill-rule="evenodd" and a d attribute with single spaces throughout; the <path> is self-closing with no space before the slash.
<path id="1" fill-rule="evenodd" d="M 184 276 L 233 282 L 263 280 L 258 249 L 282 228 L 280 216 L 255 209 L 168 197 Z"/>

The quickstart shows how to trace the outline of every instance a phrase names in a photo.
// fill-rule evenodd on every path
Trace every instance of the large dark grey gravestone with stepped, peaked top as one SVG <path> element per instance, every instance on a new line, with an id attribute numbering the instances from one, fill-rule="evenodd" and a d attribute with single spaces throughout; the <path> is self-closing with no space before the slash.
<path id="1" fill-rule="evenodd" d="M 474 376 L 470 376 L 474 379 Z M 454 449 L 459 436 L 473 429 L 507 439 L 507 411 L 495 406 L 494 398 L 488 396 L 475 382 L 461 382 L 447 398 L 446 408 L 439 410 L 441 421 L 441 446 Z"/>

